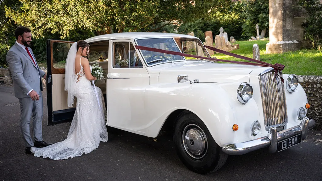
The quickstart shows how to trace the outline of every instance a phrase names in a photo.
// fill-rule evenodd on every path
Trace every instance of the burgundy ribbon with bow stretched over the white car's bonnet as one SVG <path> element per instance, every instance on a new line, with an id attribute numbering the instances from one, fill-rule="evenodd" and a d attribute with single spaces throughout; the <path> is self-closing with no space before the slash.
<path id="1" fill-rule="evenodd" d="M 276 78 L 276 76 L 279 76 L 281 78 L 281 81 L 284 83 L 284 79 L 282 78 L 282 76 L 280 76 L 278 74 L 278 71 L 282 71 L 284 69 L 284 65 L 276 63 L 275 65 L 272 65 L 270 63 L 267 62 L 262 62 L 259 60 L 255 60 L 252 58 L 248 58 L 242 55 L 237 55 L 231 52 L 226 52 L 217 48 L 213 48 L 210 46 L 205 46 L 206 48 L 213 50 L 215 52 L 219 52 L 219 53 L 223 53 L 229 56 L 233 56 L 236 58 L 240 58 L 243 60 L 248 60 L 251 62 L 238 62 L 238 61 L 230 61 L 230 60 L 222 60 L 222 59 L 216 59 L 216 58 L 208 58 L 208 57 L 202 57 L 202 56 L 198 56 L 198 55 L 190 55 L 190 54 L 186 54 L 186 53 L 181 53 L 181 52 L 174 52 L 174 51 L 168 51 L 168 50 L 162 50 L 162 49 L 158 49 L 158 48 L 150 48 L 150 47 L 146 47 L 146 46 L 137 46 L 135 45 L 135 48 L 138 50 L 146 50 L 146 51 L 151 51 L 151 52 L 160 52 L 160 53 L 167 53 L 167 54 L 172 54 L 172 55 L 179 55 L 179 56 L 185 56 L 185 57 L 193 57 L 193 58 L 199 58 L 199 59 L 205 59 L 205 60 L 213 60 L 213 61 L 220 61 L 220 62 L 228 62 L 228 63 L 236 63 L 236 64 L 242 64 L 242 65 L 255 65 L 255 66 L 261 66 L 261 67 L 272 67 L 275 69 L 274 72 L 274 77 Z M 256 62 L 256 63 L 252 63 L 252 62 Z"/>

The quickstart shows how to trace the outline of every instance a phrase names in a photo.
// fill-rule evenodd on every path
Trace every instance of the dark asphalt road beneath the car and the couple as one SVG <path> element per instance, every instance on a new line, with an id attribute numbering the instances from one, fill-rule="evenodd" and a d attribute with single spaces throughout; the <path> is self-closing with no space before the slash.
<path id="1" fill-rule="evenodd" d="M 47 126 L 44 96 L 43 138 L 66 138 L 70 124 Z M 0 181 L 3 180 L 322 180 L 322 132 L 282 152 L 266 149 L 229 156 L 217 172 L 199 175 L 188 170 L 175 153 L 171 138 L 147 138 L 108 128 L 109 141 L 81 157 L 50 160 L 26 155 L 19 128 L 20 109 L 13 87 L 0 86 Z M 114 131 L 113 131 L 114 130 Z M 114 134 L 113 134 L 114 133 Z"/>

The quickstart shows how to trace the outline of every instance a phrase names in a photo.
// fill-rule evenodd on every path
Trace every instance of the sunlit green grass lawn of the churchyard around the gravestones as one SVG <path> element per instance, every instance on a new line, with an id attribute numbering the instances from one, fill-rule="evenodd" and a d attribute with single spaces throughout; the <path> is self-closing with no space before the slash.
<path id="1" fill-rule="evenodd" d="M 316 50 L 298 50 L 295 52 L 286 52 L 283 54 L 266 54 L 266 44 L 269 41 L 237 41 L 239 44 L 238 50 L 233 50 L 232 53 L 253 57 L 252 47 L 257 43 L 260 48 L 260 61 L 271 64 L 281 63 L 285 65 L 283 73 L 296 75 L 322 75 L 322 52 Z M 213 55 L 218 59 L 242 61 L 235 57 L 216 53 Z M 247 61 L 249 62 L 249 61 Z"/>

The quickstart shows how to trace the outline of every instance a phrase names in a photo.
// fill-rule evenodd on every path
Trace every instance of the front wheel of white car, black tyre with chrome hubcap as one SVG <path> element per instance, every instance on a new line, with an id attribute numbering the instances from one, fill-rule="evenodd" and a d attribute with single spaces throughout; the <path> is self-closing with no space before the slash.
<path id="1" fill-rule="evenodd" d="M 228 155 L 217 145 L 203 121 L 192 112 L 179 114 L 173 139 L 180 160 L 196 173 L 217 171 L 227 160 Z"/>

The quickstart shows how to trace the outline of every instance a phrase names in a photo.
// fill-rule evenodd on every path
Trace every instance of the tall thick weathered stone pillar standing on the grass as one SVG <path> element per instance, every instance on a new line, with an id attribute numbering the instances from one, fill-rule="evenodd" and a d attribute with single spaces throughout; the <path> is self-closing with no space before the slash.
<path id="1" fill-rule="evenodd" d="M 269 0 L 270 42 L 266 53 L 296 51 L 309 48 L 310 41 L 303 39 L 305 22 L 304 10 L 298 8 L 296 0 Z"/>

